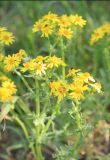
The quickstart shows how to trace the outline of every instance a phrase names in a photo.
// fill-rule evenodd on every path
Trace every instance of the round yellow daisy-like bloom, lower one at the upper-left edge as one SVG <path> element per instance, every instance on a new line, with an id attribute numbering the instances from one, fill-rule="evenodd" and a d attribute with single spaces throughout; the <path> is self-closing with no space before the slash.
<path id="1" fill-rule="evenodd" d="M 13 33 L 3 31 L 0 33 L 0 42 L 5 44 L 5 45 L 10 45 L 14 41 L 14 36 Z"/>

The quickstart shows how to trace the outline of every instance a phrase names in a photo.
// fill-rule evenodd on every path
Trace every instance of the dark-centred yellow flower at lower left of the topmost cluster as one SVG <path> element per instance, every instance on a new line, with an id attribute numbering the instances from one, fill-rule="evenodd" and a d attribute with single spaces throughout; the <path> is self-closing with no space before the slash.
<path id="1" fill-rule="evenodd" d="M 43 26 L 42 29 L 42 35 L 41 37 L 49 37 L 52 34 L 52 27 L 49 25 Z"/>

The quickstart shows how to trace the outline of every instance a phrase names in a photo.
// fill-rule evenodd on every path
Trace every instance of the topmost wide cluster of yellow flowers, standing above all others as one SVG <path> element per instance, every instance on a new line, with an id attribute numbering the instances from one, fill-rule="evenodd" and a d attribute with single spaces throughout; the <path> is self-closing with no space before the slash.
<path id="1" fill-rule="evenodd" d="M 58 35 L 70 39 L 73 35 L 73 27 L 84 27 L 86 21 L 79 15 L 62 15 L 49 12 L 40 20 L 36 21 L 33 26 L 33 32 L 41 32 L 41 37 L 49 37 L 50 35 Z"/>

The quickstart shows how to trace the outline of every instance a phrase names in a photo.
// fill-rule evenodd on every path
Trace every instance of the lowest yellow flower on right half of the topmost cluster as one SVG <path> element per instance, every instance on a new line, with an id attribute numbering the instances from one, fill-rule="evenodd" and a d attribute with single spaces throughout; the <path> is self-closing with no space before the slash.
<path id="1" fill-rule="evenodd" d="M 58 36 L 62 37 L 66 37 L 67 39 L 71 39 L 73 31 L 70 28 L 62 28 L 60 27 L 58 32 L 57 32 Z"/>

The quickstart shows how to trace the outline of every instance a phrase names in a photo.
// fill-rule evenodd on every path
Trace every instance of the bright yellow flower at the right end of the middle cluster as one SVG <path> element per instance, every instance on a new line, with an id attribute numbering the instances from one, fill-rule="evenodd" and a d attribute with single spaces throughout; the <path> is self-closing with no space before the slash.
<path id="1" fill-rule="evenodd" d="M 58 58 L 56 56 L 48 57 L 46 60 L 47 68 L 58 68 L 59 66 L 65 66 L 66 64 L 61 60 L 61 58 Z"/>

